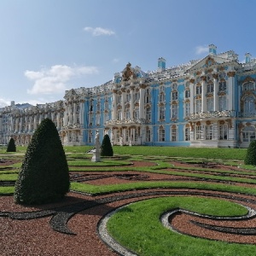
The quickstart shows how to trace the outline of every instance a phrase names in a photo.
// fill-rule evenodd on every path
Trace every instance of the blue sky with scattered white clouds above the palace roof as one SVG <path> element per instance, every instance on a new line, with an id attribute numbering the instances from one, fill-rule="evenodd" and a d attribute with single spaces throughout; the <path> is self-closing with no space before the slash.
<path id="1" fill-rule="evenodd" d="M 0 108 L 234 50 L 256 56 L 253 0 L 1 0 Z"/>

